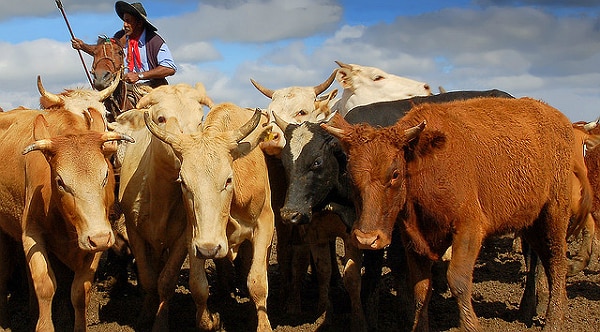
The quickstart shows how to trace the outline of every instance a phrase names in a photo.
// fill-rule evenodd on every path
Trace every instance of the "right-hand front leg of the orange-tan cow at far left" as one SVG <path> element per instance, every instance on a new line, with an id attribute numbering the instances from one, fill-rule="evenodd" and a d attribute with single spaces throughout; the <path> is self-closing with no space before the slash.
<path id="1" fill-rule="evenodd" d="M 90 303 L 90 289 L 101 255 L 101 252 L 86 255 L 81 268 L 74 271 L 75 275 L 71 284 L 71 303 L 75 310 L 74 331 L 86 331 L 86 311 Z"/>

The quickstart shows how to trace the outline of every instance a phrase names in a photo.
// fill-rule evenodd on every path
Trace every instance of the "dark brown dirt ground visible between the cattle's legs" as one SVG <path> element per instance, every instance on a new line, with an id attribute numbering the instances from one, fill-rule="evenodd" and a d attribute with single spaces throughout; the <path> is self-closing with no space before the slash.
<path id="1" fill-rule="evenodd" d="M 595 250 L 595 252 L 597 249 Z M 315 313 L 317 302 L 316 280 L 307 274 L 304 280 L 302 315 L 286 314 L 282 305 L 285 294 L 279 290 L 280 280 L 274 258 L 269 268 L 268 313 L 274 331 L 348 331 L 349 300 L 341 286 L 332 289 L 334 312 L 332 324 L 324 326 L 324 315 Z M 88 309 L 88 331 L 135 331 L 135 318 L 142 303 L 142 295 L 136 287 L 135 274 L 129 272 L 130 280 L 125 287 L 111 286 L 110 264 L 103 261 L 93 287 Z M 512 249 L 512 239 L 501 237 L 486 241 L 474 272 L 473 303 L 481 327 L 486 332 L 541 331 L 543 318 L 535 320 L 528 328 L 518 315 L 518 305 L 523 292 L 524 268 L 522 255 Z M 384 270 L 385 271 L 385 270 Z M 389 271 L 389 270 L 387 270 Z M 170 326 L 172 331 L 195 331 L 195 307 L 187 287 L 189 270 L 182 269 L 176 295 L 172 301 Z M 252 331 L 256 326 L 252 302 L 244 295 L 235 297 L 220 294 L 214 286 L 214 270 L 209 267 L 211 298 L 209 307 L 220 313 L 223 331 Z M 409 322 L 399 311 L 401 296 L 397 294 L 392 273 L 384 272 L 379 289 L 378 331 L 406 331 Z M 64 291 L 63 291 L 64 293 Z M 221 292 L 222 293 L 222 292 Z M 600 331 L 600 264 L 597 253 L 592 263 L 567 283 L 568 309 L 565 329 L 569 331 Z M 61 300 L 62 299 L 62 300 Z M 64 308 L 68 297 L 58 296 L 55 310 L 57 331 L 72 331 L 68 321 L 69 312 Z M 30 331 L 33 320 L 27 310 L 27 296 L 15 293 L 10 297 L 12 331 Z M 62 303 L 62 306 L 61 306 Z M 434 292 L 430 303 L 432 331 L 458 331 L 458 308 L 448 290 Z M 28 328 L 29 326 L 29 328 Z M 1 330 L 1 329 L 0 329 Z"/>

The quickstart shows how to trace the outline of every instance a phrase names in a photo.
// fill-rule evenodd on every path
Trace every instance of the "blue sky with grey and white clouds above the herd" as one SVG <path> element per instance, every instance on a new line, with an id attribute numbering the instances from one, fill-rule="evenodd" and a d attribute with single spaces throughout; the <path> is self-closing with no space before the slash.
<path id="1" fill-rule="evenodd" d="M 122 25 L 114 1 L 62 3 L 88 43 Z M 446 90 L 541 99 L 572 121 L 600 116 L 600 1 L 142 3 L 179 66 L 170 82 L 202 82 L 216 102 L 266 107 L 250 78 L 272 89 L 312 86 L 339 60 Z M 0 31 L 0 107 L 38 107 L 37 75 L 52 92 L 89 86 L 54 0 L 0 0 Z M 84 59 L 89 69 L 92 59 Z"/>

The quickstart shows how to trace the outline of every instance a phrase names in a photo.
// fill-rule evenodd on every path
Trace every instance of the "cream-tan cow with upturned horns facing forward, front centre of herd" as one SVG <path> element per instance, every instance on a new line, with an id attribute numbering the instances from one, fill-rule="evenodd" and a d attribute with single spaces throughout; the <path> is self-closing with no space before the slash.
<path id="1" fill-rule="evenodd" d="M 214 330 L 220 322 L 207 308 L 206 259 L 234 260 L 244 241 L 252 243 L 247 286 L 258 314 L 257 331 L 271 331 L 267 315 L 267 267 L 275 221 L 265 157 L 258 143 L 270 126 L 231 103 L 214 106 L 200 131 L 167 131 L 148 119 L 154 135 L 168 143 L 181 161 L 180 180 L 188 216 L 190 289 L 197 327 Z"/>

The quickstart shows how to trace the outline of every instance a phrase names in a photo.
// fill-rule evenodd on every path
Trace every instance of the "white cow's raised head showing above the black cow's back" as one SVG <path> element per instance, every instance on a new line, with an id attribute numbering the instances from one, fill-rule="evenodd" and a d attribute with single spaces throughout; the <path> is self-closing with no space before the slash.
<path id="1" fill-rule="evenodd" d="M 359 105 L 431 95 L 431 88 L 427 83 L 388 74 L 375 67 L 345 64 L 341 61 L 335 63 L 340 66 L 335 78 L 344 92 L 331 110 L 342 116 Z"/>

